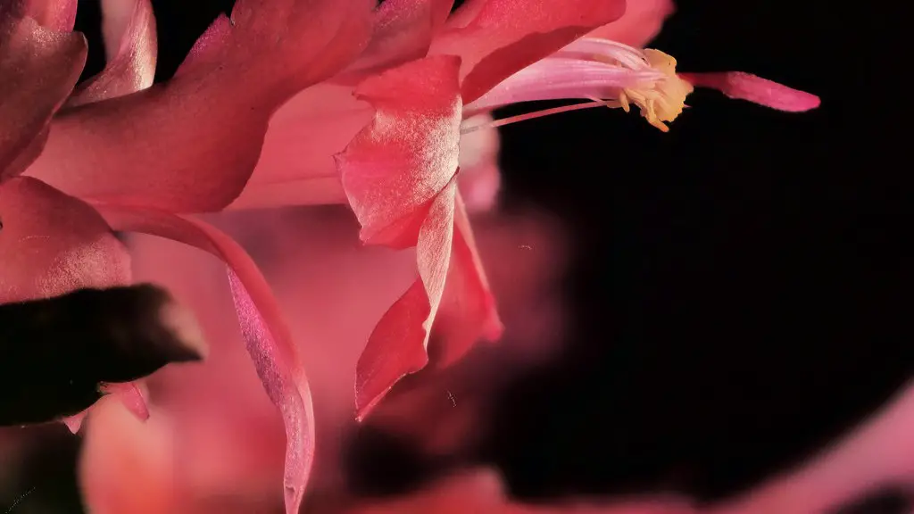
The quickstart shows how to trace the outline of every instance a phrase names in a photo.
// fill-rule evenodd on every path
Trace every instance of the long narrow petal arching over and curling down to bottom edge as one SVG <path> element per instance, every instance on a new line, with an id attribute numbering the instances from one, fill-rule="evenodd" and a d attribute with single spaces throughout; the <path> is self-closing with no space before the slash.
<path id="1" fill-rule="evenodd" d="M 139 231 L 181 241 L 228 263 L 228 279 L 241 332 L 267 395 L 282 412 L 286 427 L 286 510 L 299 511 L 314 455 L 311 392 L 279 305 L 257 265 L 223 232 L 206 223 L 169 213 L 101 207 L 120 230 Z"/>

